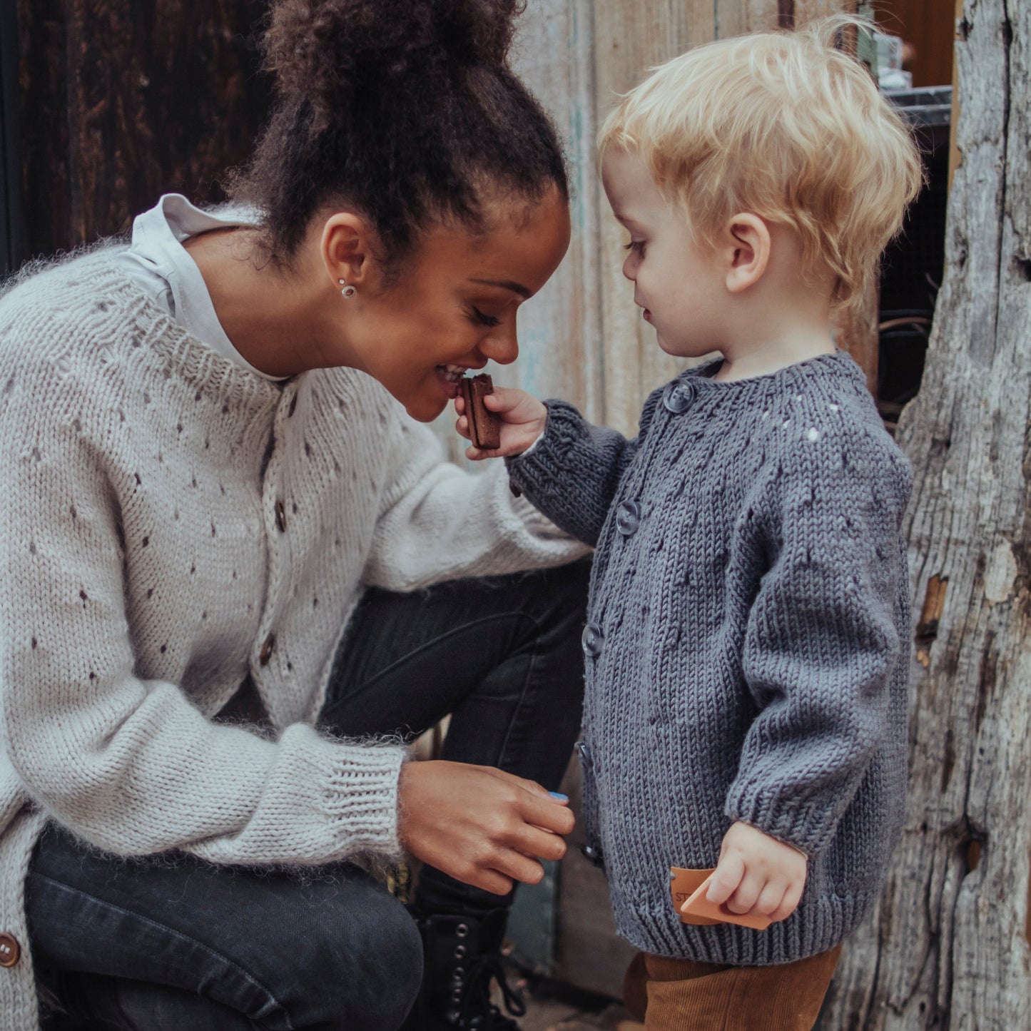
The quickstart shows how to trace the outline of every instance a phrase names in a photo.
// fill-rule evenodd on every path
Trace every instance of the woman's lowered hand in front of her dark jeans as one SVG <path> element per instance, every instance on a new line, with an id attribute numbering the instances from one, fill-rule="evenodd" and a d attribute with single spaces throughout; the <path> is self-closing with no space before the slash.
<path id="1" fill-rule="evenodd" d="M 467 885 L 506 895 L 535 885 L 538 859 L 566 854 L 566 802 L 539 784 L 490 766 L 408 762 L 398 783 L 398 837 L 424 863 Z"/>

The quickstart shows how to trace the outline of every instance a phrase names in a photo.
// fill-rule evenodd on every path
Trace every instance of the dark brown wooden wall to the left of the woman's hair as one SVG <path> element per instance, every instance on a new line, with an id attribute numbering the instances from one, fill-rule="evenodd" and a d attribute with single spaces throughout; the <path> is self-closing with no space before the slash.
<path id="1" fill-rule="evenodd" d="M 32 255 L 123 232 L 165 192 L 219 179 L 263 125 L 263 0 L 18 0 Z"/>

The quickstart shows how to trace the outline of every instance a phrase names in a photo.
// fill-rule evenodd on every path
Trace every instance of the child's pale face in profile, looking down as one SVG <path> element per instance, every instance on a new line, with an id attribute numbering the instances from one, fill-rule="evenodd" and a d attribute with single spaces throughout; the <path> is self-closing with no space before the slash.
<path id="1" fill-rule="evenodd" d="M 685 358 L 718 351 L 730 295 L 717 253 L 694 242 L 684 215 L 633 152 L 606 152 L 601 177 L 613 214 L 630 233 L 623 274 L 659 346 Z"/>

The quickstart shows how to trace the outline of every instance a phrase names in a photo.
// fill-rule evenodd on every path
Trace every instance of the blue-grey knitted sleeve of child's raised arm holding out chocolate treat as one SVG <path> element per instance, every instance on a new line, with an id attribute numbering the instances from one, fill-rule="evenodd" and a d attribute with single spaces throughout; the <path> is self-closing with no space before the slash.
<path id="1" fill-rule="evenodd" d="M 644 403 L 638 435 L 593 426 L 565 401 L 547 401 L 547 427 L 532 451 L 506 459 L 511 481 L 548 519 L 597 544 L 620 479 L 647 432 L 662 390 Z"/>

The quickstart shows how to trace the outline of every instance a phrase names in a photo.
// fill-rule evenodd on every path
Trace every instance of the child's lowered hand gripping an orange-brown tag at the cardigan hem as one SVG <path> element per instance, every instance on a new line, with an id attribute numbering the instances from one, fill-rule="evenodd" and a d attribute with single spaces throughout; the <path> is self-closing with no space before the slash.
<path id="1" fill-rule="evenodd" d="M 807 865 L 797 849 L 739 822 L 724 835 L 705 897 L 738 914 L 787 920 L 802 897 Z"/>

